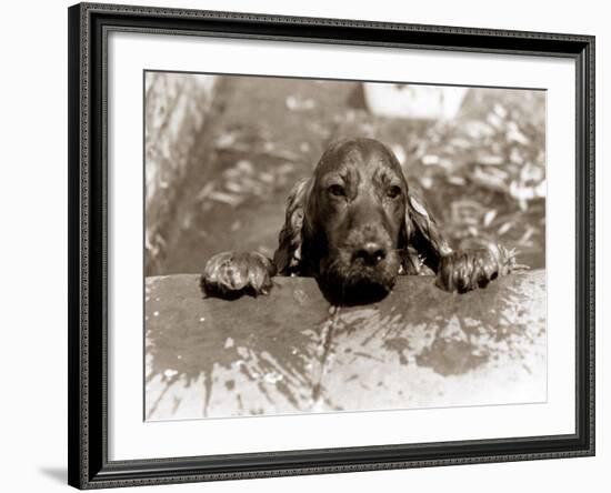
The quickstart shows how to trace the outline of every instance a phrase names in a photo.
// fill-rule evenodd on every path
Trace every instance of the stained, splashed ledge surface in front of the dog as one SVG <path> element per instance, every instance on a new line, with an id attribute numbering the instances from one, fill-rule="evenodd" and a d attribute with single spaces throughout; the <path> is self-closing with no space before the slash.
<path id="1" fill-rule="evenodd" d="M 545 273 L 467 294 L 400 278 L 330 306 L 313 279 L 204 299 L 198 275 L 146 283 L 148 420 L 417 409 L 547 399 Z"/>

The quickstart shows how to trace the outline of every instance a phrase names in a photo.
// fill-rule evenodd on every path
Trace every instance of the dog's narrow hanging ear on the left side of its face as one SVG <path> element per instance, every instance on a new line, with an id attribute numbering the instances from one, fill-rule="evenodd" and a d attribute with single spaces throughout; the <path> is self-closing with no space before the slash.
<path id="1" fill-rule="evenodd" d="M 292 188 L 287 202 L 284 225 L 278 238 L 278 250 L 273 263 L 279 274 L 299 271 L 301 263 L 301 242 L 303 241 L 303 215 L 310 194 L 310 180 L 303 179 Z"/>

